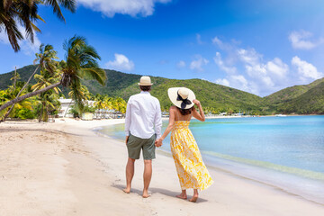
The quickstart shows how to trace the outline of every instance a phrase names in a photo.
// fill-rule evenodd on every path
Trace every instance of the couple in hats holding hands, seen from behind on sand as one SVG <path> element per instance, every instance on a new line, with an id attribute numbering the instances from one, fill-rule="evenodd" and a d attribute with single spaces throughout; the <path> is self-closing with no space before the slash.
<path id="1" fill-rule="evenodd" d="M 151 96 L 149 76 L 142 76 L 139 81 L 140 94 L 130 96 L 126 109 L 126 145 L 128 162 L 126 166 L 125 193 L 130 193 L 131 180 L 134 175 L 134 163 L 139 159 L 140 150 L 144 158 L 144 189 L 142 196 L 147 198 L 148 185 L 152 176 L 152 159 L 155 148 L 162 146 L 163 139 L 171 131 L 171 151 L 175 160 L 176 172 L 179 177 L 182 193 L 176 197 L 187 199 L 186 189 L 193 188 L 191 202 L 198 199 L 198 189 L 204 190 L 213 181 L 202 155 L 188 126 L 192 117 L 204 121 L 201 103 L 195 99 L 193 91 L 184 87 L 169 88 L 167 93 L 174 106 L 170 107 L 169 123 L 161 135 L 161 108 L 156 97 Z M 194 108 L 196 105 L 199 112 Z"/>

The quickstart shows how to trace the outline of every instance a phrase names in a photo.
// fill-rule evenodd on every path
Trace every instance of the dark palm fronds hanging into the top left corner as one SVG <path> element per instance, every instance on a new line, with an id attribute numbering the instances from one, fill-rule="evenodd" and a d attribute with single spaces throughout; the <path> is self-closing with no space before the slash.
<path id="1" fill-rule="evenodd" d="M 57 14 L 58 19 L 65 22 L 60 6 L 70 12 L 76 11 L 76 0 L 2 0 L 0 1 L 0 31 L 5 31 L 8 40 L 14 51 L 19 51 L 19 40 L 23 40 L 23 34 L 19 30 L 18 24 L 23 25 L 26 37 L 31 42 L 34 39 L 34 31 L 40 29 L 35 25 L 37 21 L 44 20 L 38 14 L 39 4 L 49 5 L 53 8 L 53 13 Z"/>

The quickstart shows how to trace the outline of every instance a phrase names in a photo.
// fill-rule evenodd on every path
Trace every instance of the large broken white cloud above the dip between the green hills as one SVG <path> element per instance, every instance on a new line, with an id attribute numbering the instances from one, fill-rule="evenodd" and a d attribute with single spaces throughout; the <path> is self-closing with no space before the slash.
<path id="1" fill-rule="evenodd" d="M 262 95 L 287 86 L 289 67 L 282 59 L 265 61 L 256 49 L 241 48 L 236 40 L 228 43 L 214 37 L 211 41 L 226 54 L 223 58 L 220 52 L 216 52 L 213 58 L 216 65 L 227 74 L 223 79 L 217 79 L 216 83 Z"/>

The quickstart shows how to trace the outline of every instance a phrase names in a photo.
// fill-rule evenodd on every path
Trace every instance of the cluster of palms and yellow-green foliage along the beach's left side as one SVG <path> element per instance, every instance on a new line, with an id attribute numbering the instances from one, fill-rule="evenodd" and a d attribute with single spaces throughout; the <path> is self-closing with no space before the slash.
<path id="1" fill-rule="evenodd" d="M 58 112 L 59 85 L 70 90 L 69 95 L 75 103 L 76 111 L 84 112 L 90 94 L 85 85 L 81 84 L 81 80 L 94 79 L 101 85 L 104 85 L 106 80 L 103 69 L 98 67 L 97 59 L 100 59 L 100 56 L 92 46 L 86 43 L 85 38 L 79 36 L 66 40 L 63 48 L 67 52 L 66 59 L 57 61 L 57 52 L 52 46 L 41 45 L 40 53 L 36 54 L 36 60 L 40 64 L 27 82 L 19 82 L 20 85 L 17 86 L 21 87 L 14 87 L 16 86 L 16 78 L 14 78 L 14 85 L 1 91 L 2 121 L 17 108 L 23 108 L 25 111 L 36 110 L 40 121 L 47 121 L 49 113 Z M 40 74 L 36 73 L 39 67 Z M 17 73 L 14 76 L 17 76 Z M 36 81 L 34 85 L 29 84 L 32 76 Z M 117 99 L 115 101 L 119 102 Z M 15 114 L 16 112 L 12 116 L 16 116 Z M 31 117 L 31 114 L 29 116 Z"/>

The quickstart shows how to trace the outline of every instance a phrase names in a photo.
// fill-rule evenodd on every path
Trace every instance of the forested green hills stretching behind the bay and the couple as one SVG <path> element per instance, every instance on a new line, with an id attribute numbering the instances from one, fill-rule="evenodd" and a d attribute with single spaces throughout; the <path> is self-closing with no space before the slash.
<path id="1" fill-rule="evenodd" d="M 36 66 L 26 66 L 17 69 L 22 80 L 26 81 Z M 121 96 L 128 100 L 131 94 L 139 93 L 140 75 L 121 73 L 115 70 L 105 70 L 108 80 L 105 86 L 85 80 L 84 84 L 92 94 L 108 94 Z M 10 78 L 14 71 L 0 75 L 0 89 L 12 85 Z M 229 109 L 238 112 L 263 111 L 263 113 L 324 113 L 323 89 L 324 78 L 314 81 L 310 85 L 296 85 L 270 94 L 264 98 L 255 94 L 240 91 L 224 85 L 217 85 L 201 79 L 167 79 L 151 76 L 151 94 L 156 96 L 163 108 L 171 105 L 167 97 L 167 89 L 174 86 L 186 86 L 193 90 L 204 106 L 213 107 L 217 111 Z M 32 80 L 31 83 L 34 83 Z"/>

